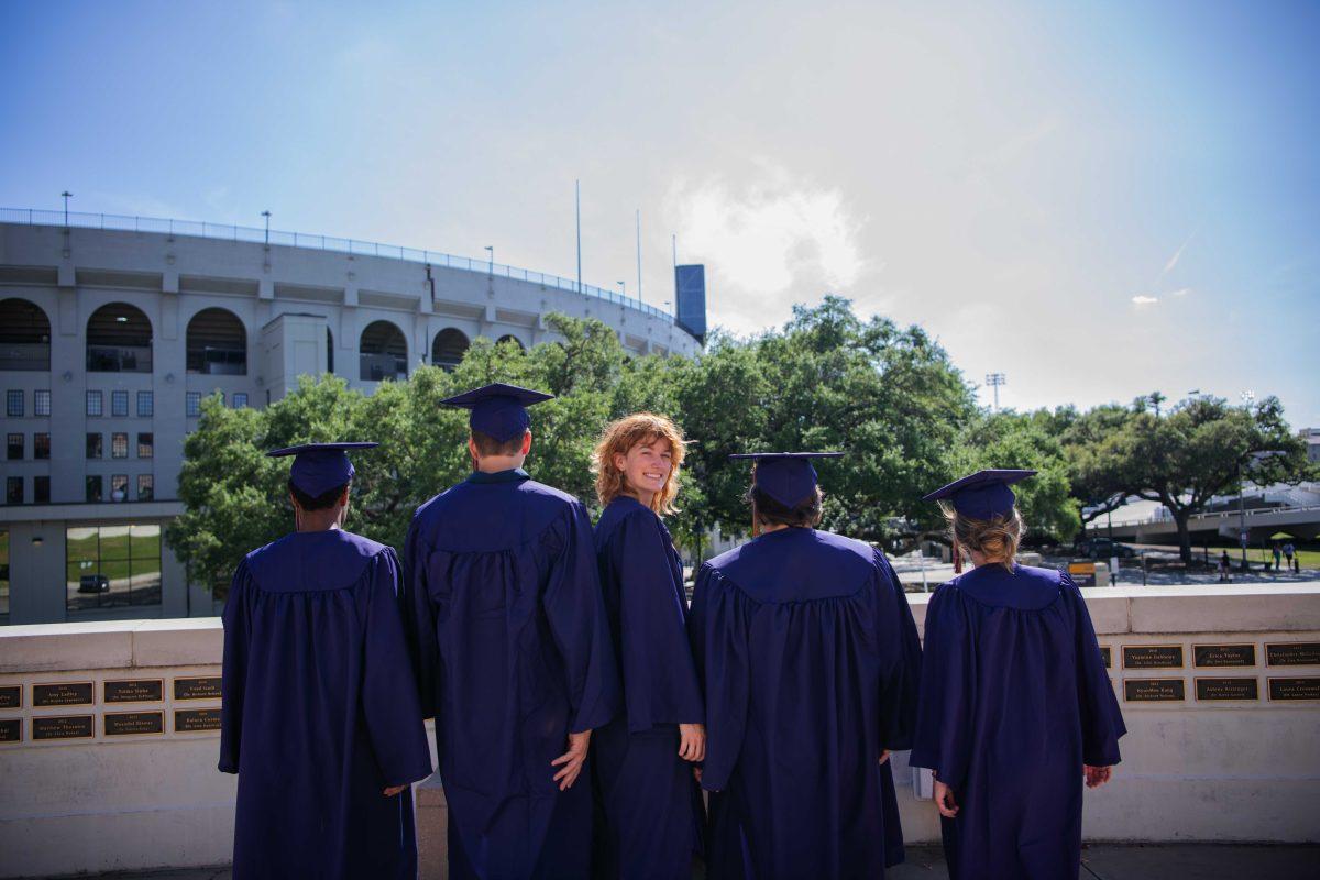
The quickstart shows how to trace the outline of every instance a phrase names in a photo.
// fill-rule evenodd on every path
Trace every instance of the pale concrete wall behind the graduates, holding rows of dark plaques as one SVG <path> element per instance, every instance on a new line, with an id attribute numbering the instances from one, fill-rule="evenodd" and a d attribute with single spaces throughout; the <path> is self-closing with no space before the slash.
<path id="1" fill-rule="evenodd" d="M 1110 648 L 1127 719 L 1114 781 L 1086 793 L 1092 840 L 1320 840 L 1320 662 L 1267 664 L 1269 645 L 1320 643 L 1320 588 L 1241 586 L 1092 588 L 1086 600 Z M 911 596 L 919 624 L 928 596 Z M 216 707 L 178 701 L 173 681 L 219 674 L 216 620 L 160 620 L 0 629 L 0 689 L 20 686 L 22 741 L 0 744 L 0 876 L 218 864 L 228 859 L 234 778 L 215 770 L 218 734 L 181 732 L 174 712 Z M 1125 669 L 1123 648 L 1180 646 L 1183 665 Z M 1197 666 L 1197 645 L 1250 645 L 1249 666 Z M 1258 698 L 1201 699 L 1196 678 L 1247 678 Z M 1312 698 L 1271 698 L 1271 678 L 1307 679 Z M 161 679 L 160 701 L 107 706 L 107 679 Z M 1184 699 L 1135 702 L 1125 682 L 1183 682 Z M 90 706 L 32 707 L 32 686 L 92 682 Z M 0 690 L 0 694 L 4 691 Z M 103 716 L 162 712 L 164 732 L 107 736 Z M 32 722 L 92 715 L 91 739 L 32 741 Z M 929 801 L 916 800 L 906 755 L 895 756 L 903 827 L 911 842 L 939 840 Z M 434 777 L 417 792 L 424 876 L 442 876 L 445 807 Z"/>

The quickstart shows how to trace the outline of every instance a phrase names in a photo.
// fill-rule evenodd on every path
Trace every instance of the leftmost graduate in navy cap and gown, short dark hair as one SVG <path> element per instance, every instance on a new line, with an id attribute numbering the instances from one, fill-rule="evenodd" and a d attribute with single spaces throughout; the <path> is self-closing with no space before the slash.
<path id="1" fill-rule="evenodd" d="M 234 876 L 414 877 L 409 784 L 430 776 L 392 548 L 343 530 L 352 464 L 310 443 L 296 530 L 239 563 L 224 603 L 220 770 L 239 774 Z"/>

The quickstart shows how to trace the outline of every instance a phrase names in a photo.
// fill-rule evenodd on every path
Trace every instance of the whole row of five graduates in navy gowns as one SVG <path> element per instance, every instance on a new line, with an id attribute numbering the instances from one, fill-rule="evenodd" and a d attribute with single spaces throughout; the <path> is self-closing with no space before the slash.
<path id="1" fill-rule="evenodd" d="M 1082 784 L 1125 728 L 1077 587 L 1014 562 L 1031 471 L 927 496 L 975 567 L 932 598 L 923 657 L 884 554 L 814 528 L 812 459 L 838 453 L 735 456 L 754 537 L 689 607 L 663 521 L 680 430 L 606 429 L 593 528 L 521 467 L 548 398 L 446 401 L 471 410 L 473 474 L 417 509 L 403 559 L 342 528 L 348 451 L 375 443 L 271 453 L 294 456 L 296 529 L 224 607 L 235 877 L 416 876 L 429 718 L 455 880 L 880 877 L 898 749 L 935 772 L 950 876 L 1077 876 Z"/>

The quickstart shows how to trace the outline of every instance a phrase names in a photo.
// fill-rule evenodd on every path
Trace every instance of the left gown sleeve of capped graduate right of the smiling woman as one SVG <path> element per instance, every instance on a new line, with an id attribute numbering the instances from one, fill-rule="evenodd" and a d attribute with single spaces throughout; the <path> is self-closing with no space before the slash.
<path id="1" fill-rule="evenodd" d="M 751 666 L 747 616 L 738 588 L 702 566 L 692 595 L 692 653 L 706 691 L 706 760 L 701 786 L 729 786 L 747 730 Z"/>

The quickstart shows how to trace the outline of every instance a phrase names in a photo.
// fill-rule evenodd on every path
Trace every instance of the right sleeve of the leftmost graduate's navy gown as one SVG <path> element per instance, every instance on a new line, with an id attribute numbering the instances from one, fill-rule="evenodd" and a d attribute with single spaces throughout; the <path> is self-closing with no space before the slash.
<path id="1" fill-rule="evenodd" d="M 371 583 L 367 584 L 362 708 L 387 786 L 424 780 L 432 769 L 399 608 L 399 557 L 387 548 L 366 574 Z"/>

